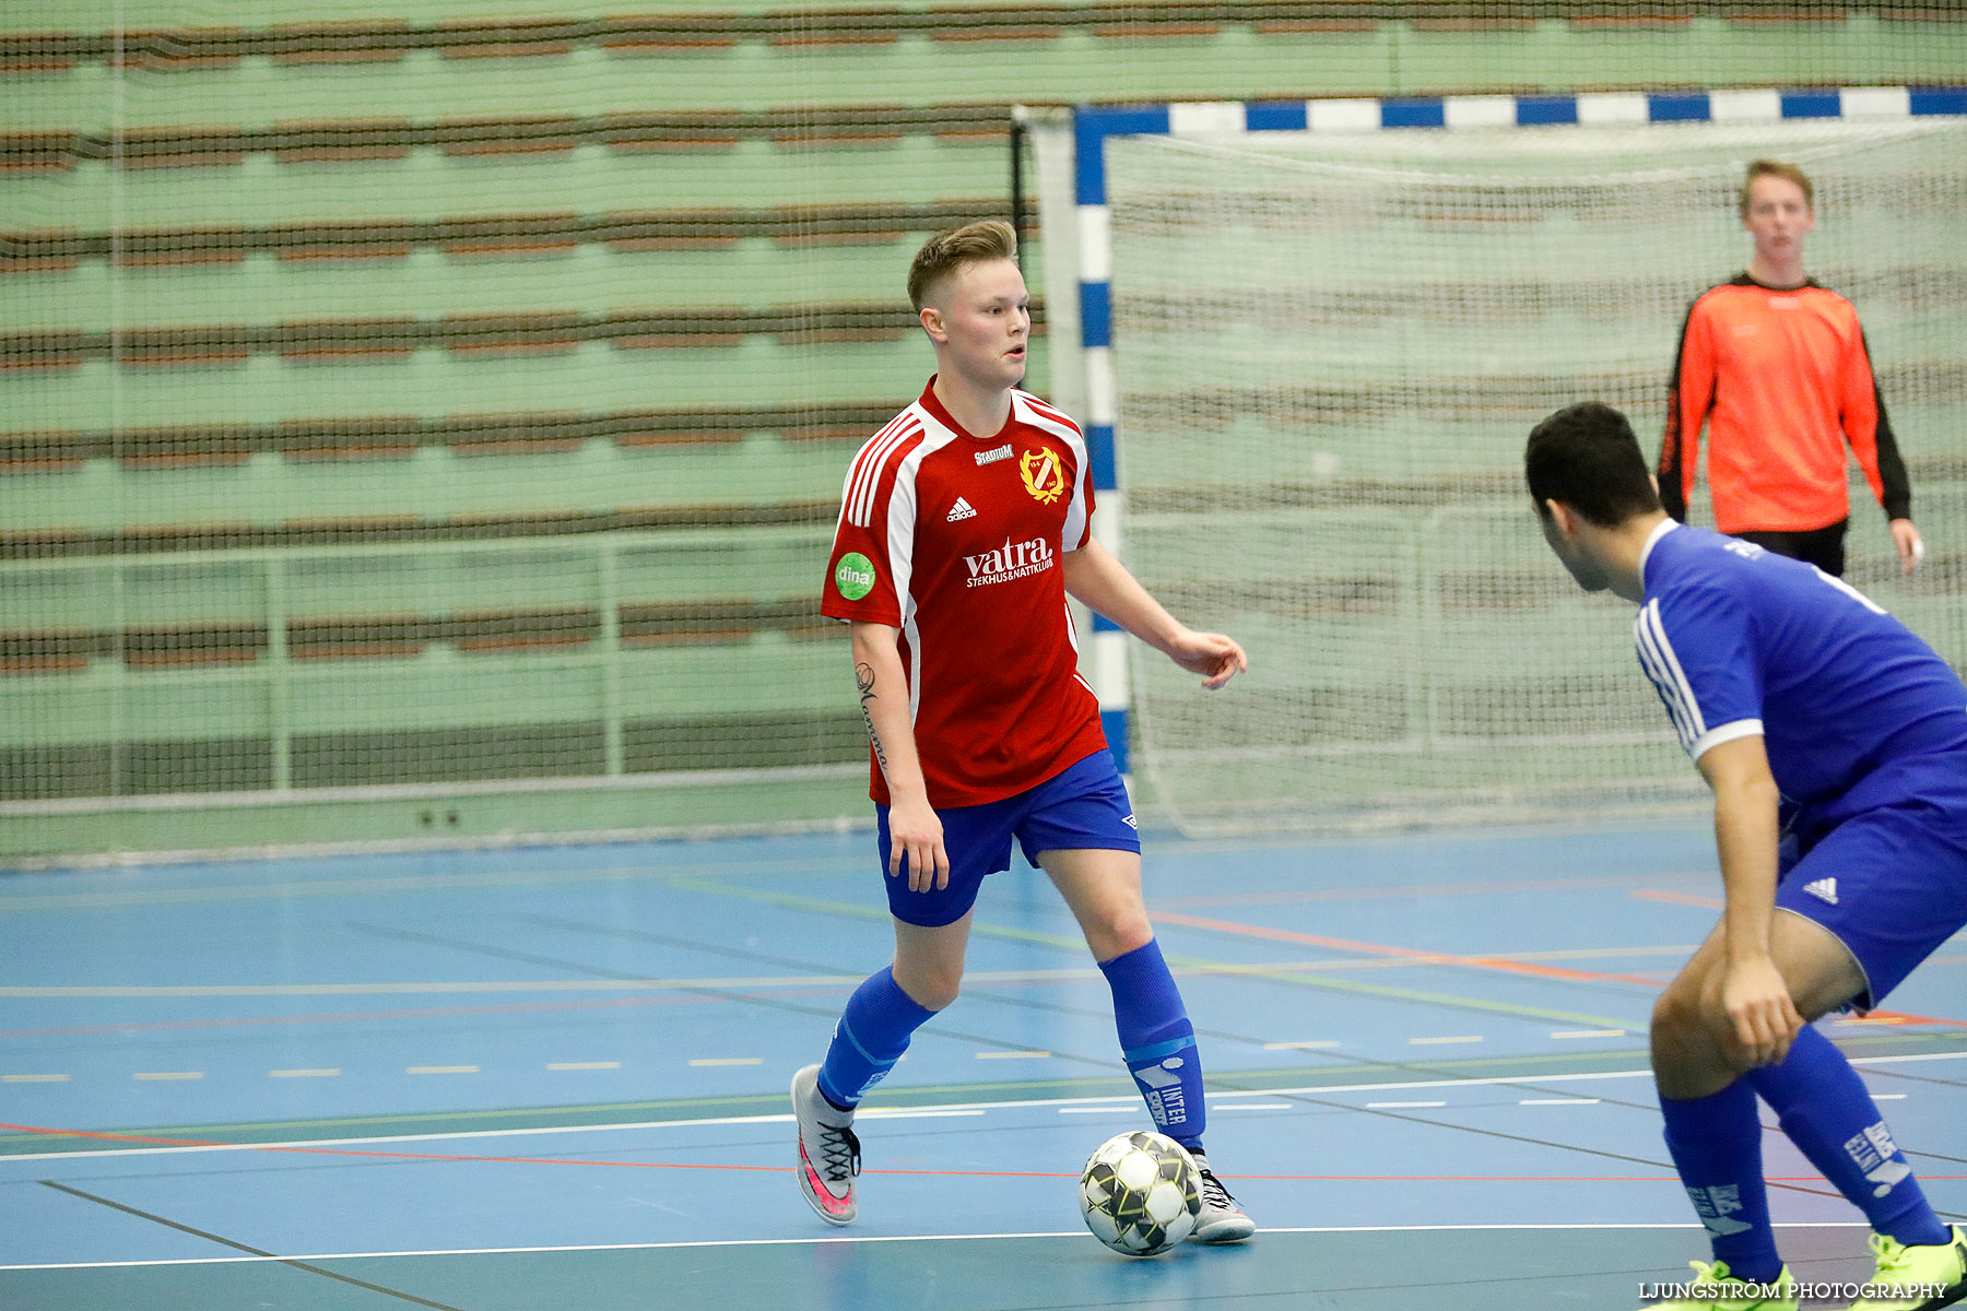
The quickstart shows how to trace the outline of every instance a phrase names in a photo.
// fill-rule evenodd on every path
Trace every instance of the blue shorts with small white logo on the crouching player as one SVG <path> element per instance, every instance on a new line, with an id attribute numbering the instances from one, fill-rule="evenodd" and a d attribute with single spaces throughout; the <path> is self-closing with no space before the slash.
<path id="1" fill-rule="evenodd" d="M 1821 924 L 1865 971 L 1871 1010 L 1967 926 L 1967 757 L 1908 757 L 1806 812 L 1776 906 Z"/>

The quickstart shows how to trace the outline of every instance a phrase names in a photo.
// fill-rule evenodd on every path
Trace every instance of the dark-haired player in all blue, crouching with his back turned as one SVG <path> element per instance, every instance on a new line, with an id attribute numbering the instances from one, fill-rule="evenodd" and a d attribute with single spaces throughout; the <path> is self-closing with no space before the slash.
<path id="1" fill-rule="evenodd" d="M 1967 1299 L 1967 1232 L 1934 1215 L 1863 1081 L 1808 1024 L 1877 1006 L 1967 924 L 1967 688 L 1847 584 L 1668 519 L 1607 405 L 1536 425 L 1524 472 L 1578 586 L 1640 605 L 1639 662 L 1715 798 L 1727 908 L 1652 1010 L 1666 1146 L 1715 1260 L 1654 1309 L 1798 1305 L 1758 1095 L 1877 1230 L 1851 1311 Z"/>

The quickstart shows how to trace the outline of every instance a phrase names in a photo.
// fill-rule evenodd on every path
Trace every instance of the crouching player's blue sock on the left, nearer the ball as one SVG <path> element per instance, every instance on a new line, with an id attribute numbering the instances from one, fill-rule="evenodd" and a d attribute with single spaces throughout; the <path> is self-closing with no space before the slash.
<path id="1" fill-rule="evenodd" d="M 1709 1097 L 1662 1097 L 1660 1114 L 1666 1116 L 1666 1150 L 1707 1226 L 1715 1260 L 1727 1262 L 1737 1280 L 1774 1280 L 1782 1258 L 1768 1226 L 1755 1089 L 1737 1079 Z"/>

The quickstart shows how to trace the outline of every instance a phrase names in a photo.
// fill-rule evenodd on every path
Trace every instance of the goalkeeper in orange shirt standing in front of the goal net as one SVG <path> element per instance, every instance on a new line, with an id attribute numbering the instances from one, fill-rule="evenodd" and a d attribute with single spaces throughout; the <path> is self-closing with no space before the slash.
<path id="1" fill-rule="evenodd" d="M 1849 301 L 1804 273 L 1804 238 L 1818 226 L 1810 179 L 1794 163 L 1757 159 L 1739 204 L 1755 257 L 1688 309 L 1660 442 L 1660 501 L 1674 519 L 1688 517 L 1705 423 L 1715 529 L 1841 576 L 1849 442 L 1910 574 L 1926 546 L 1865 332 Z"/>

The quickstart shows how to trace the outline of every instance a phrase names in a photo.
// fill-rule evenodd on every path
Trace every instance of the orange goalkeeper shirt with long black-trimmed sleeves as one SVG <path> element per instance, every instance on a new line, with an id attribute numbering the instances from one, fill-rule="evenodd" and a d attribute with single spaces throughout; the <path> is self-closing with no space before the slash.
<path id="1" fill-rule="evenodd" d="M 1660 444 L 1660 501 L 1674 519 L 1688 517 L 1703 423 L 1721 533 L 1847 519 L 1845 442 L 1886 519 L 1912 515 L 1857 311 L 1814 281 L 1776 289 L 1743 273 L 1688 309 Z"/>

